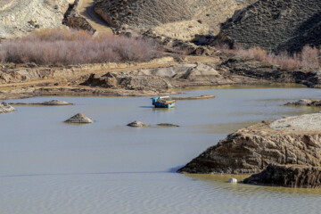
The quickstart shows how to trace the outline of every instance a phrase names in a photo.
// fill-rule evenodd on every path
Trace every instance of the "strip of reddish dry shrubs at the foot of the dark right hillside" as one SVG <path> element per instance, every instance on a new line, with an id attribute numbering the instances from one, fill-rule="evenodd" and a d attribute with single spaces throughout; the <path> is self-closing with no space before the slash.
<path id="1" fill-rule="evenodd" d="M 320 68 L 320 50 L 309 45 L 304 46 L 301 53 L 293 53 L 292 55 L 286 52 L 268 53 L 259 47 L 244 49 L 242 46 L 236 46 L 235 49 L 229 49 L 228 45 L 217 45 L 216 48 L 226 53 L 235 53 L 236 56 L 244 60 L 256 60 L 279 65 L 283 70 Z"/>

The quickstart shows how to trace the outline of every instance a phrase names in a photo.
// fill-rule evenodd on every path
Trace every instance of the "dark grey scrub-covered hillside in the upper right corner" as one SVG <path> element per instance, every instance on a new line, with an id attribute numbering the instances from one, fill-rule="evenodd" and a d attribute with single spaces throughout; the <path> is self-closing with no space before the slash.
<path id="1" fill-rule="evenodd" d="M 236 11 L 221 33 L 245 47 L 300 51 L 320 45 L 321 1 L 261 0 Z"/>

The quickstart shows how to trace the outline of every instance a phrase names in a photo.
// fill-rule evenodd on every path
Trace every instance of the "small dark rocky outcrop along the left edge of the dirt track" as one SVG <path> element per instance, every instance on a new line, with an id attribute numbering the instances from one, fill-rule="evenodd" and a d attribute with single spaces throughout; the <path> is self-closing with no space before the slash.
<path id="1" fill-rule="evenodd" d="M 70 8 L 65 13 L 62 23 L 72 29 L 82 29 L 86 30 L 92 35 L 95 34 L 96 30 L 94 27 L 78 12 L 78 4 L 79 0 L 75 0 L 74 4 L 70 4 Z"/>

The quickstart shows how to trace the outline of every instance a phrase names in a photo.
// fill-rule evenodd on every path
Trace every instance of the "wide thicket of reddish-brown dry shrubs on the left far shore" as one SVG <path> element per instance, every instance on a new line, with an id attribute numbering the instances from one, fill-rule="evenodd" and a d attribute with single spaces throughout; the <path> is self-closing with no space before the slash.
<path id="1" fill-rule="evenodd" d="M 37 64 L 102 62 L 147 62 L 160 56 L 155 45 L 143 39 L 104 34 L 92 37 L 86 31 L 43 29 L 27 37 L 5 40 L 0 61 Z"/>

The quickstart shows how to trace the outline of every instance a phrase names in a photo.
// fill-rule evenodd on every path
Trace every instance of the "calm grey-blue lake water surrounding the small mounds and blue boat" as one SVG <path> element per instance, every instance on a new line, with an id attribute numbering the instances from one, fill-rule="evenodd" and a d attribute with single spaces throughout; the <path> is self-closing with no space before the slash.
<path id="1" fill-rule="evenodd" d="M 317 89 L 185 93 L 217 98 L 154 110 L 148 97 L 61 97 L 77 105 L 16 106 L 16 112 L 0 115 L 0 213 L 319 212 L 320 190 L 231 185 L 231 176 L 174 173 L 238 128 L 319 111 L 284 106 L 307 95 L 318 98 Z M 95 123 L 63 123 L 78 112 Z M 128 128 L 134 120 L 180 127 Z"/>

